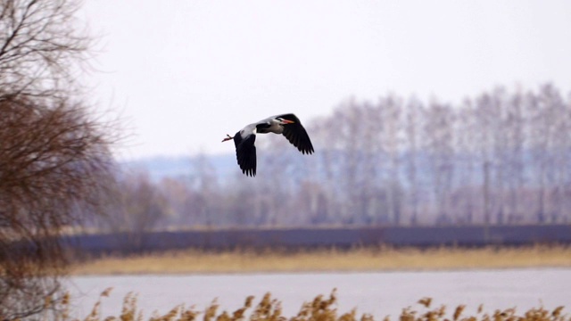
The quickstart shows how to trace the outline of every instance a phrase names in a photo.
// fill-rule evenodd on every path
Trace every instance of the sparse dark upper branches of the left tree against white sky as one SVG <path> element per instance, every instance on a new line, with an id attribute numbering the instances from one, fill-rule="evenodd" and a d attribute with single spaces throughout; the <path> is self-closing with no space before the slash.
<path id="1" fill-rule="evenodd" d="M 70 63 L 83 62 L 90 44 L 74 28 L 78 9 L 74 0 L 0 0 L 0 100 L 69 97 L 79 71 Z"/>

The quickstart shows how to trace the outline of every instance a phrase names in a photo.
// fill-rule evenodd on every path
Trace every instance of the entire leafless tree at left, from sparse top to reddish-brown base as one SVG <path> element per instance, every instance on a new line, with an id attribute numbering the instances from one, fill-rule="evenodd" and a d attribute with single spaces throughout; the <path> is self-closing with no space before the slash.
<path id="1" fill-rule="evenodd" d="M 112 128 L 90 116 L 73 73 L 89 43 L 68 0 L 0 0 L 0 319 L 50 308 L 59 235 L 97 211 Z"/>

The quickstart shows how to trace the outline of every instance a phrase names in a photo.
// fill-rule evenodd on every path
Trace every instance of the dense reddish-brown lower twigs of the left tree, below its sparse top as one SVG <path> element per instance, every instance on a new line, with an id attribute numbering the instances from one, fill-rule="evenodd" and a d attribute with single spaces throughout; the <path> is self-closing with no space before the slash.
<path id="1" fill-rule="evenodd" d="M 111 157 L 104 131 L 76 104 L 4 100 L 0 113 L 0 316 L 10 319 L 44 307 L 57 288 L 41 277 L 63 268 L 55 237 L 97 210 Z"/>

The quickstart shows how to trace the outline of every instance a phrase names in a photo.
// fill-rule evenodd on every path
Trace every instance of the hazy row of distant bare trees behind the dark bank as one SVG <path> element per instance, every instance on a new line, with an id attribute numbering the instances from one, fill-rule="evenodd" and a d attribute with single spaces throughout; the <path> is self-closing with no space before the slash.
<path id="1" fill-rule="evenodd" d="M 571 222 L 571 95 L 496 87 L 459 104 L 348 99 L 303 125 L 315 154 L 260 137 L 258 175 L 120 180 L 107 226 L 426 226 Z M 222 138 L 222 136 L 220 137 Z M 233 152 L 234 147 L 228 146 Z M 100 226 L 101 227 L 101 226 Z"/>

